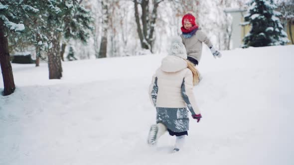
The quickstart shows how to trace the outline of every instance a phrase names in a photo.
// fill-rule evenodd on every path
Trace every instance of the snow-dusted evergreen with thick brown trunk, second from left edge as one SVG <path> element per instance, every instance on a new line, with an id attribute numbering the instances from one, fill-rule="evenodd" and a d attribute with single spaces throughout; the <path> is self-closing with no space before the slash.
<path id="1" fill-rule="evenodd" d="M 60 42 L 65 39 L 80 39 L 86 42 L 92 29 L 90 11 L 77 0 L 48 0 L 49 9 L 43 13 L 44 21 L 52 29 L 46 34 L 52 42 L 48 50 L 49 79 L 62 77 Z M 60 33 L 62 32 L 62 33 Z"/>

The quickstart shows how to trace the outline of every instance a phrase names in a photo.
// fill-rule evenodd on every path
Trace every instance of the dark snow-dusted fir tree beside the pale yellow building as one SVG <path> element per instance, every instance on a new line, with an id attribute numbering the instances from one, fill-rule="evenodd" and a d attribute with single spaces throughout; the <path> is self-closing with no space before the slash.
<path id="1" fill-rule="evenodd" d="M 244 37 L 243 47 L 285 45 L 289 42 L 280 22 L 281 13 L 276 11 L 273 0 L 251 0 L 245 21 L 251 24 L 250 32 Z"/>

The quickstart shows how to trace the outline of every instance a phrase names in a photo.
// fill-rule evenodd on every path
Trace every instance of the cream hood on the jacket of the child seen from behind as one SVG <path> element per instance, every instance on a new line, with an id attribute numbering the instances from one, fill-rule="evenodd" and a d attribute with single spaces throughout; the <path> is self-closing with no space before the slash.
<path id="1" fill-rule="evenodd" d="M 178 72 L 187 68 L 187 62 L 176 56 L 166 56 L 161 61 L 160 69 L 163 72 Z"/>

